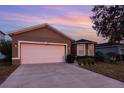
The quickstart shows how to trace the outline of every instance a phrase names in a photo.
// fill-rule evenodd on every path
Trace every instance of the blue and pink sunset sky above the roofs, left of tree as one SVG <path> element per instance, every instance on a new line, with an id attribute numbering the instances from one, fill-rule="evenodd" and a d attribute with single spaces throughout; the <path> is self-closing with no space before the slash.
<path id="1" fill-rule="evenodd" d="M 92 8 L 88 5 L 1 5 L 0 30 L 9 33 L 48 23 L 75 40 L 106 42 L 92 28 Z"/>

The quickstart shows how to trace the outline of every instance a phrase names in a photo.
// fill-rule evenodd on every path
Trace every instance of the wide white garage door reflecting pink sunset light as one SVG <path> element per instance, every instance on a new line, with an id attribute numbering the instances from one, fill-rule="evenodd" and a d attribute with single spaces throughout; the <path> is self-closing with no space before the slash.
<path id="1" fill-rule="evenodd" d="M 64 45 L 21 44 L 21 64 L 65 61 Z"/>

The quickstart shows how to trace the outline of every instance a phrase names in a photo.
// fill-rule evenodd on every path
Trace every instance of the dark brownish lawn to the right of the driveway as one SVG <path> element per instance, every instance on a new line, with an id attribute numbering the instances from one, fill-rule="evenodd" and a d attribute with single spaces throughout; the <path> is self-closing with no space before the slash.
<path id="1" fill-rule="evenodd" d="M 116 64 L 97 62 L 95 65 L 83 65 L 81 67 L 124 82 L 124 62 Z"/>

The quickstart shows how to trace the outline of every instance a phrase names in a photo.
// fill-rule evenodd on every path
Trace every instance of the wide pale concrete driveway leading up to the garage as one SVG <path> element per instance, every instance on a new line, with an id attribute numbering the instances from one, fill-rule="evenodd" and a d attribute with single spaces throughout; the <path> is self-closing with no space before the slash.
<path id="1" fill-rule="evenodd" d="M 124 83 L 75 65 L 21 65 L 0 86 L 9 88 L 98 88 L 124 87 Z"/>

